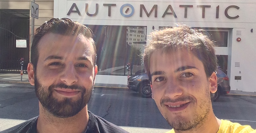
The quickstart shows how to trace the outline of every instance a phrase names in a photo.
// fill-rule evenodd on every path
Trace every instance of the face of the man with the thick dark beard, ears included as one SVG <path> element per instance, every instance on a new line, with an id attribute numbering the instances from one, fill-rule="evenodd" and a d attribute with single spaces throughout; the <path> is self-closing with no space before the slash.
<path id="1" fill-rule="evenodd" d="M 83 35 L 48 33 L 38 43 L 36 72 L 30 83 L 42 106 L 57 117 L 71 117 L 87 104 L 93 91 L 97 66 L 93 45 Z"/>

